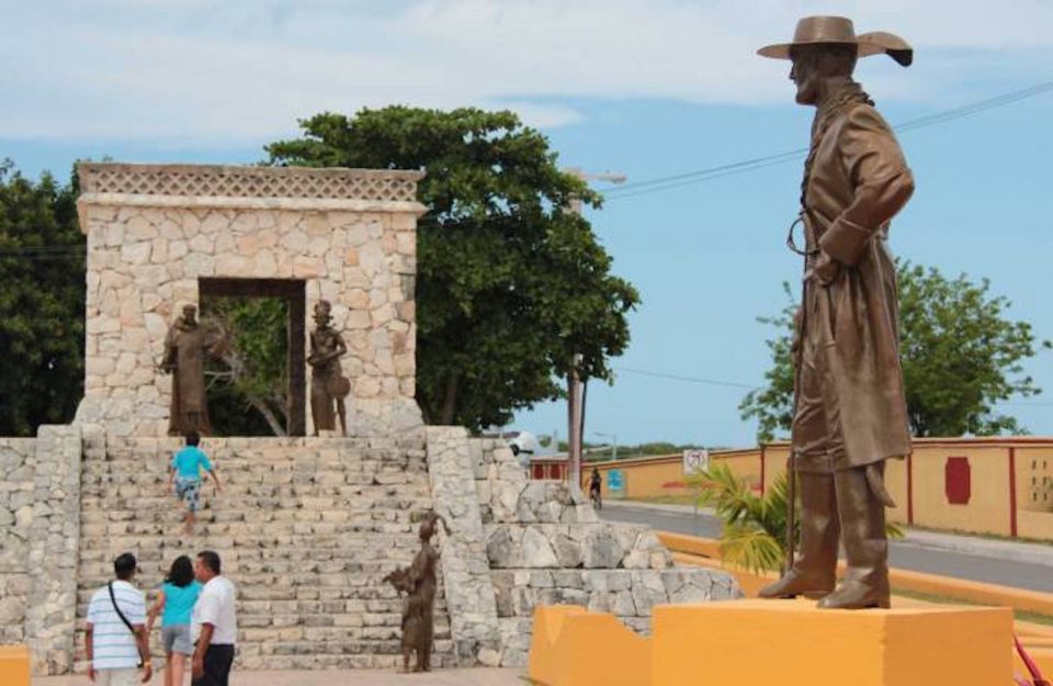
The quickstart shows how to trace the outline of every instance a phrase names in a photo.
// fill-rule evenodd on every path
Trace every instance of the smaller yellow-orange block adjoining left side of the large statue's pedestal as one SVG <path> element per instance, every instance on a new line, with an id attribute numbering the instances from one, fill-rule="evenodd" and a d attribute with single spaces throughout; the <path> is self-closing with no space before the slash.
<path id="1" fill-rule="evenodd" d="M 539 607 L 530 679 L 537 686 L 647 686 L 650 645 L 612 615 L 575 605 Z"/>

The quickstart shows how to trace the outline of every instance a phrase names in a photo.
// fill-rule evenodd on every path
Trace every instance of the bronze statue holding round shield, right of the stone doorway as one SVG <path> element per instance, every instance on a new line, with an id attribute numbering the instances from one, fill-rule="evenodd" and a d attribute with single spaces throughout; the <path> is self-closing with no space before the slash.
<path id="1" fill-rule="evenodd" d="M 340 435 L 348 435 L 347 409 L 343 398 L 351 391 L 351 383 L 341 373 L 340 358 L 348 351 L 343 338 L 329 324 L 331 305 L 318 301 L 315 305 L 315 330 L 310 333 L 310 416 L 315 423 L 315 436 L 319 429 L 337 428 L 340 416 Z M 336 406 L 336 412 L 333 412 Z"/>

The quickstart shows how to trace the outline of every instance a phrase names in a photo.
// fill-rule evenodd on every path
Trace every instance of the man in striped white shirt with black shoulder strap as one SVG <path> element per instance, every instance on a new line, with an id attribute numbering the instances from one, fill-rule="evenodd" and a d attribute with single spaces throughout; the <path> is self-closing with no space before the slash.
<path id="1" fill-rule="evenodd" d="M 113 561 L 116 581 L 97 591 L 88 605 L 88 678 L 98 686 L 136 686 L 140 664 L 143 683 L 150 681 L 146 599 L 132 585 L 136 569 L 132 553 L 117 556 Z"/>

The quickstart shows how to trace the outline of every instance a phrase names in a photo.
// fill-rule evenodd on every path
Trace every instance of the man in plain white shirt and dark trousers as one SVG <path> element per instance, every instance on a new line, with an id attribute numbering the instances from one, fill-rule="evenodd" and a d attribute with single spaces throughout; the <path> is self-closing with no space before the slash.
<path id="1" fill-rule="evenodd" d="M 220 575 L 219 555 L 211 550 L 197 553 L 194 575 L 204 588 L 194 604 L 190 625 L 196 645 L 193 686 L 228 686 L 238 638 L 234 584 Z"/>

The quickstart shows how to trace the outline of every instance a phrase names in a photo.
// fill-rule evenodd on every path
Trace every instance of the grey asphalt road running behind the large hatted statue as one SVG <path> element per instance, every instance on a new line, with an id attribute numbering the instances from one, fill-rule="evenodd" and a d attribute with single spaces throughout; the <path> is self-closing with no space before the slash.
<path id="1" fill-rule="evenodd" d="M 707 515 L 698 518 L 690 513 L 660 511 L 618 504 L 604 507 L 604 519 L 645 524 L 660 531 L 717 538 L 720 520 Z M 941 550 L 915 541 L 893 541 L 888 559 L 892 566 L 956 578 L 1001 584 L 1030 591 L 1053 593 L 1053 566 L 1006 559 Z"/>

